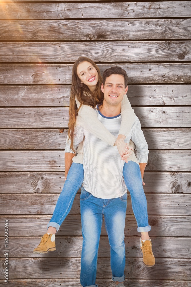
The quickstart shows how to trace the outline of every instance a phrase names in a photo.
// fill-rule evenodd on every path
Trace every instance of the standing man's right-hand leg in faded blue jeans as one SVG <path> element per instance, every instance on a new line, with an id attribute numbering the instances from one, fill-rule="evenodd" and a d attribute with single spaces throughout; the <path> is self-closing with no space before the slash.
<path id="1" fill-rule="evenodd" d="M 127 209 L 127 193 L 119 198 L 105 200 L 108 200 L 108 204 L 105 204 L 106 206 L 103 214 L 110 244 L 112 280 L 118 284 L 123 283 L 125 279 L 124 228 Z"/>

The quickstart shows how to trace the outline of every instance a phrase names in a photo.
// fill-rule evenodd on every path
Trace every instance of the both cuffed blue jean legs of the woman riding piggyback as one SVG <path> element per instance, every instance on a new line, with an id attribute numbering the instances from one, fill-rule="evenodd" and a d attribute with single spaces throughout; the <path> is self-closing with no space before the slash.
<path id="1" fill-rule="evenodd" d="M 123 177 L 131 195 L 132 208 L 138 226 L 137 231 L 148 232 L 151 230 L 151 226 L 148 223 L 147 200 L 143 190 L 139 165 L 133 161 L 125 163 Z M 83 180 L 83 164 L 73 162 L 47 227 L 53 226 L 56 228 L 56 231 L 59 230 L 60 225 L 71 210 L 74 197 L 81 187 Z"/>

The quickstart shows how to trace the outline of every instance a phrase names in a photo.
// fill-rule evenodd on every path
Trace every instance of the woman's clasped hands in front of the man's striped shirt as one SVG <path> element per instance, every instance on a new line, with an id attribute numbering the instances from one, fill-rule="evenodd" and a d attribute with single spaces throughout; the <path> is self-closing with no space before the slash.
<path id="1" fill-rule="evenodd" d="M 117 146 L 121 160 L 125 160 L 127 163 L 127 159 L 131 156 L 133 148 L 129 146 L 129 143 L 125 143 L 124 139 L 125 135 L 118 135 L 117 140 L 115 141 L 115 146 Z"/>

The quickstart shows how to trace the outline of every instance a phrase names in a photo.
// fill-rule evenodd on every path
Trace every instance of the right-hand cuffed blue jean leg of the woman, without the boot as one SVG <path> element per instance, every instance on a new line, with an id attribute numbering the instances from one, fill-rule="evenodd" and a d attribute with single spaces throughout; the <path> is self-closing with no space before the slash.
<path id="1" fill-rule="evenodd" d="M 147 199 L 143 190 L 139 165 L 131 160 L 124 164 L 123 177 L 131 195 L 133 213 L 137 221 L 138 232 L 148 232 L 151 226 L 148 222 Z"/>

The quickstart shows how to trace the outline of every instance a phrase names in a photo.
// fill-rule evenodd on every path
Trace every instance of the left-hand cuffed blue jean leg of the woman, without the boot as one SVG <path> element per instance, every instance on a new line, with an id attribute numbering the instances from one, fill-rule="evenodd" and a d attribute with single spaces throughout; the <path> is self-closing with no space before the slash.
<path id="1" fill-rule="evenodd" d="M 74 202 L 74 197 L 81 187 L 84 180 L 84 169 L 83 164 L 80 163 L 72 163 L 67 179 L 64 183 L 64 187 L 60 196 L 58 197 L 58 201 L 56 203 L 56 207 L 54 209 L 52 218 L 48 223 L 47 227 L 52 226 L 56 228 L 56 232 L 59 230 L 60 225 L 70 212 L 72 208 L 72 204 Z"/>

